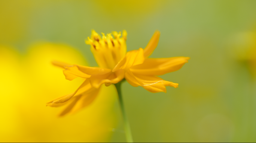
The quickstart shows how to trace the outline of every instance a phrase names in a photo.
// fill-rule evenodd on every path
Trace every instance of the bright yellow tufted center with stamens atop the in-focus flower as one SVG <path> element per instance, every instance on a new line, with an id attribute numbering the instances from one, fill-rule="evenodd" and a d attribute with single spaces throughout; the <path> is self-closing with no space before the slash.
<path id="1" fill-rule="evenodd" d="M 124 30 L 121 37 L 121 32 L 112 32 L 112 34 L 101 33 L 102 37 L 92 31 L 91 38 L 88 37 L 86 44 L 91 45 L 91 51 L 98 63 L 98 66 L 107 69 L 113 69 L 116 64 L 125 56 L 126 54 L 126 39 L 127 32 Z"/>

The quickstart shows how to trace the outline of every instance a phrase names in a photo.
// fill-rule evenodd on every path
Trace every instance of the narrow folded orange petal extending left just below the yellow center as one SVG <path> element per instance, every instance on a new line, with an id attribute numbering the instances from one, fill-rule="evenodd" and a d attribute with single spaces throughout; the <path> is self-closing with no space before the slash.
<path id="1" fill-rule="evenodd" d="M 80 71 L 88 75 L 103 75 L 111 72 L 110 69 L 103 69 L 99 67 L 87 67 L 87 66 L 79 66 L 79 65 L 74 65 L 74 66 L 77 66 Z"/>

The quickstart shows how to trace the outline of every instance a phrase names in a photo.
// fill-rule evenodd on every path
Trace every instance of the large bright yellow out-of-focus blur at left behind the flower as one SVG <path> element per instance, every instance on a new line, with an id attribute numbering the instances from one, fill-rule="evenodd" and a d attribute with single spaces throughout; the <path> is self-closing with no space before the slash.
<path id="1" fill-rule="evenodd" d="M 64 44 L 35 44 L 25 55 L 0 47 L 0 142 L 107 142 L 115 126 L 114 88 L 103 88 L 83 111 L 58 118 L 60 109 L 45 103 L 73 92 L 82 80 L 65 80 L 52 60 L 86 65 L 78 51 Z"/>

